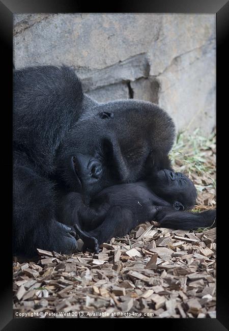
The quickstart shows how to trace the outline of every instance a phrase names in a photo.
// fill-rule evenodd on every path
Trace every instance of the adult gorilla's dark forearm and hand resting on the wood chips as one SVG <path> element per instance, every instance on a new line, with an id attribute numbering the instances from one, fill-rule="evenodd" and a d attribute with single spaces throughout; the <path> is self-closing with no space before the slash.
<path id="1" fill-rule="evenodd" d="M 35 173 L 31 164 L 15 161 L 14 254 L 28 257 L 36 248 L 71 253 L 77 249 L 71 229 L 56 222 L 53 183 Z"/>

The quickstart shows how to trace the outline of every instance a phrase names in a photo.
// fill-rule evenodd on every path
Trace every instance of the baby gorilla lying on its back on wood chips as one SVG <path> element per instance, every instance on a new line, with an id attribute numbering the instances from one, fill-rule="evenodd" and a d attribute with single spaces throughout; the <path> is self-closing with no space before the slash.
<path id="1" fill-rule="evenodd" d="M 144 181 L 107 187 L 92 199 L 89 207 L 81 195 L 69 194 L 66 205 L 71 217 L 68 213 L 65 219 L 71 218 L 69 225 L 75 223 L 84 249 L 98 253 L 101 243 L 122 237 L 138 224 L 153 219 L 162 227 L 174 229 L 190 229 L 193 224 L 194 227 L 212 225 L 215 210 L 183 211 L 191 209 L 196 200 L 195 186 L 187 176 L 161 170 L 153 176 L 152 183 L 152 187 Z"/>

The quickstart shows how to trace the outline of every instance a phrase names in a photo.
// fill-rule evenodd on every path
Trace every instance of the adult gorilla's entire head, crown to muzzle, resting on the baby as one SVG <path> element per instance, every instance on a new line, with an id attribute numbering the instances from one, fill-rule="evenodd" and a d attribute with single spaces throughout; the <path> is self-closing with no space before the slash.
<path id="1" fill-rule="evenodd" d="M 155 111 L 163 116 L 152 103 L 109 102 L 95 107 L 93 117 L 75 124 L 59 151 L 57 164 L 69 189 L 94 196 L 107 186 L 135 182 L 152 171 L 152 157 L 159 150 L 162 159 L 167 157 L 174 134 L 170 121 L 170 130 L 158 136 Z"/>

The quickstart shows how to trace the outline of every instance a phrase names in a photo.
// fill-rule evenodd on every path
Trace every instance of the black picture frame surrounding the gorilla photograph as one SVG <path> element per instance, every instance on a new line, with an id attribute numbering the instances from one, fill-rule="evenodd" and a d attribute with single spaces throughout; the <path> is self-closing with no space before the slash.
<path id="1" fill-rule="evenodd" d="M 148 0 L 132 0 L 132 1 L 117 1 L 116 3 L 102 6 L 101 2 L 95 2 L 91 8 L 87 3 L 77 0 L 64 1 L 49 1 L 49 0 L 4 0 L 0 1 L 0 38 L 2 49 L 2 70 L 4 71 L 4 84 L 1 88 L 2 96 L 5 98 L 5 106 L 2 101 L 2 116 L 8 117 L 3 119 L 2 131 L 4 139 L 2 144 L 2 162 L 4 170 L 2 173 L 2 181 L 6 181 L 4 186 L 4 203 L 3 208 L 7 210 L 6 216 L 2 215 L 2 239 L 7 237 L 6 244 L 2 244 L 2 262 L 1 275 L 5 280 L 2 280 L 1 296 L 0 296 L 0 327 L 3 330 L 39 330 L 52 327 L 50 323 L 56 322 L 56 319 L 33 319 L 33 318 L 15 318 L 13 319 L 13 304 L 12 304 L 12 213 L 9 210 L 12 208 L 12 43 L 13 43 L 13 14 L 14 13 L 212 13 L 216 14 L 216 33 L 217 33 L 217 183 L 220 181 L 220 176 L 225 174 L 223 165 L 224 161 L 219 162 L 220 150 L 223 150 L 222 142 L 224 141 L 223 132 L 227 129 L 223 128 L 219 123 L 219 113 L 224 113 L 226 96 L 228 94 L 228 77 L 226 74 L 228 51 L 226 47 L 226 37 L 229 31 L 228 14 L 229 3 L 227 0 L 192 0 L 192 1 L 148 1 Z M 224 80 L 225 78 L 225 84 Z M 6 83 L 7 82 L 7 83 Z M 226 90 L 227 89 L 227 90 Z M 224 121 L 225 122 L 225 121 Z M 9 123 L 9 129 L 5 129 L 5 123 Z M 220 125 L 220 129 L 219 129 Z M 225 123 L 224 125 L 227 125 Z M 220 140 L 220 144 L 219 144 Z M 221 168 L 221 169 L 220 169 Z M 7 176 L 9 174 L 9 176 Z M 221 175 L 220 175 L 221 174 Z M 228 329 L 228 297 L 227 291 L 227 259 L 224 257 L 224 252 L 227 252 L 227 232 L 224 231 L 223 222 L 227 219 L 223 217 L 222 208 L 226 209 L 226 197 L 220 193 L 217 184 L 217 216 L 220 217 L 220 225 L 217 231 L 217 318 L 216 319 L 154 319 L 151 321 L 152 327 L 163 327 L 164 323 L 169 323 L 169 329 L 182 330 L 208 330 L 221 331 Z M 6 208 L 10 204 L 9 208 Z M 221 207 L 222 206 L 222 207 Z M 220 213 L 222 214 L 220 216 Z M 219 222 L 218 222 L 219 224 Z M 4 225 L 4 228 L 3 228 Z M 7 225 L 7 226 L 6 226 Z M 0 264 L 0 265 L 1 265 Z M 227 287 L 227 288 L 226 288 Z M 58 319 L 62 323 L 63 319 Z M 75 320 L 64 319 L 62 324 L 65 328 L 68 327 L 66 322 L 75 322 Z M 87 319 L 88 320 L 88 319 Z M 108 319 L 99 319 L 108 320 Z M 115 319 L 117 320 L 117 319 Z M 146 320 L 146 319 L 144 319 Z M 49 321 L 49 322 L 48 322 Z M 78 321 L 76 322 L 78 323 Z M 87 322 L 86 322 L 87 323 Z M 104 323 L 104 322 L 102 322 Z M 156 325 L 155 325 L 156 323 Z M 115 326 L 115 324 L 113 324 Z M 78 325 L 76 325 L 77 327 Z M 59 324 L 59 327 L 61 325 Z"/>

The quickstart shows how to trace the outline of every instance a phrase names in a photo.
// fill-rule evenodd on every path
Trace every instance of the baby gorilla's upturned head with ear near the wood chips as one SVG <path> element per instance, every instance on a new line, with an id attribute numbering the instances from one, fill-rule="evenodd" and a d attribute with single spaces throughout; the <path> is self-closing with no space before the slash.
<path id="1" fill-rule="evenodd" d="M 193 182 L 184 174 L 170 170 L 160 170 L 154 175 L 153 191 L 176 210 L 191 209 L 197 197 Z"/>

